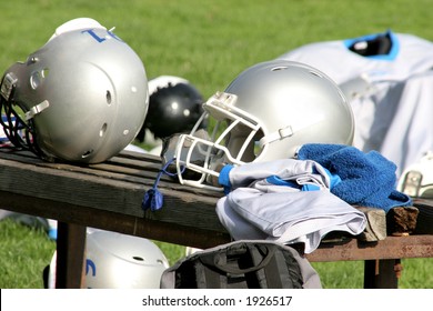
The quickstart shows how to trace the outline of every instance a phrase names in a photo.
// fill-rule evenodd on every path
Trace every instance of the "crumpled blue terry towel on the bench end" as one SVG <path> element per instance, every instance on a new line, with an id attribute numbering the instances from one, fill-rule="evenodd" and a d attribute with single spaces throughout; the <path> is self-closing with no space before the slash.
<path id="1" fill-rule="evenodd" d="M 395 190 L 396 165 L 376 151 L 343 144 L 304 144 L 300 160 L 313 160 L 341 178 L 331 192 L 353 205 L 380 208 L 387 212 L 394 207 L 412 204 L 409 195 Z"/>

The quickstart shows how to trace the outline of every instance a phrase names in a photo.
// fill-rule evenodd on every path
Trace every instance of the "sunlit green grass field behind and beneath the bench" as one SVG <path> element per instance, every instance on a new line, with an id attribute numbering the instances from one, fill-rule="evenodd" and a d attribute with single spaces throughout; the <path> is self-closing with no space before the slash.
<path id="1" fill-rule="evenodd" d="M 433 40 L 430 0 L 1 1 L 0 72 L 26 60 L 54 29 L 90 17 L 127 41 L 149 78 L 189 79 L 205 98 L 243 69 L 295 47 L 392 29 Z M 183 248 L 160 244 L 171 262 Z M 0 223 L 0 288 L 40 288 L 56 244 L 43 232 Z M 402 288 L 433 288 L 433 261 L 403 261 Z M 361 288 L 362 262 L 314 263 L 325 288 Z"/>

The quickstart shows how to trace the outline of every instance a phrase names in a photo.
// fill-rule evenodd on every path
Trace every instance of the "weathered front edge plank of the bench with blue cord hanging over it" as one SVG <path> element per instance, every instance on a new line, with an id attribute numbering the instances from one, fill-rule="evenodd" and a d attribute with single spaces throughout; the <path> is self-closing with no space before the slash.
<path id="1" fill-rule="evenodd" d="M 157 212 L 144 212 L 141 203 L 154 180 L 137 182 L 119 175 L 110 178 L 74 170 L 75 167 L 70 170 L 64 164 L 41 167 L 0 159 L 0 190 L 26 195 L 28 200 L 43 199 L 53 204 L 88 207 L 203 230 L 222 230 L 214 212 L 218 197 L 202 195 L 191 188 L 181 191 L 187 187 L 182 188 L 174 181 L 165 182 L 160 184 L 164 195 L 163 208 Z M 2 204 L 8 209 L 6 203 Z"/>

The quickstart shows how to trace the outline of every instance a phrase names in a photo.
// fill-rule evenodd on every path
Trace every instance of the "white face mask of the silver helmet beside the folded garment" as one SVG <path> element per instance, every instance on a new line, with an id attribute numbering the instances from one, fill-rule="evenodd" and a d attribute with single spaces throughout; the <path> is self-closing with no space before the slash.
<path id="1" fill-rule="evenodd" d="M 241 158 L 246 143 L 239 148 L 236 154 L 232 154 L 225 146 L 225 140 L 239 128 L 252 127 L 255 133 L 260 127 L 255 122 L 248 121 L 251 119 L 245 118 L 243 111 L 232 106 L 232 101 L 235 100 L 235 96 L 218 92 L 203 104 L 205 113 L 190 134 L 175 134 L 164 142 L 163 162 L 174 159 L 174 171 L 182 184 L 220 191 L 222 188 L 218 184 L 218 177 L 221 168 L 226 163 L 243 163 Z M 216 120 L 211 137 L 201 127 L 202 122 L 209 121 L 208 117 Z M 173 168 L 169 168 L 169 171 L 173 171 Z"/>

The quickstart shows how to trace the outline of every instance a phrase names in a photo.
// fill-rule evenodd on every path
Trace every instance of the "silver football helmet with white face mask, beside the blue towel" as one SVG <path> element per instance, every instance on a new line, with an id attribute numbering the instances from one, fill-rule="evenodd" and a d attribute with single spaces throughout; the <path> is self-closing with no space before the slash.
<path id="1" fill-rule="evenodd" d="M 339 87 L 303 63 L 255 64 L 204 104 L 211 138 L 199 129 L 179 137 L 174 159 L 181 183 L 215 189 L 224 164 L 294 158 L 305 143 L 351 144 L 352 110 Z M 191 170 L 194 179 L 185 179 Z M 212 185 L 213 184 L 213 185 Z M 218 185 L 218 184 L 216 184 Z M 216 187 L 220 189 L 220 187 Z"/>

